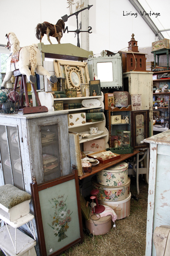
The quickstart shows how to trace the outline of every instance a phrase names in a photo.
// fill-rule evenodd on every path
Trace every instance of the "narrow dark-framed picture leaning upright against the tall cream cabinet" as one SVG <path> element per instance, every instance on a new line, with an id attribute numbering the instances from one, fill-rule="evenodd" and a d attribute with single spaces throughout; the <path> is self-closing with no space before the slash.
<path id="1" fill-rule="evenodd" d="M 143 115 L 143 122 L 141 126 L 137 126 L 137 123 L 136 123 L 137 115 Z M 146 143 L 146 142 L 138 143 L 138 139 L 139 137 L 142 138 L 142 140 L 149 138 L 149 110 L 131 111 L 131 124 L 132 124 L 131 125 L 131 134 L 132 134 L 131 146 L 134 149 L 148 148 L 149 143 Z"/>

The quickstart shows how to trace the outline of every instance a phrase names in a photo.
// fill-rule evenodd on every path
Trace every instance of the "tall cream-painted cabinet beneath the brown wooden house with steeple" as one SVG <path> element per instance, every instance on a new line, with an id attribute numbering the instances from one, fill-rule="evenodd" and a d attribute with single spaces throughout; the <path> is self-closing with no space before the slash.
<path id="1" fill-rule="evenodd" d="M 123 73 L 129 80 L 129 93 L 141 94 L 142 110 L 149 109 L 150 136 L 153 135 L 153 72 L 130 71 Z"/>

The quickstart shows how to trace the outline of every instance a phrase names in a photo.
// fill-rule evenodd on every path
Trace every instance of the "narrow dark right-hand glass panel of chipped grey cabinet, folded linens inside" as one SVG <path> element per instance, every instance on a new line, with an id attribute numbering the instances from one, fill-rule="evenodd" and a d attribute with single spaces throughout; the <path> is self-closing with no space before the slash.
<path id="1" fill-rule="evenodd" d="M 44 182 L 62 176 L 57 125 L 41 126 Z"/>

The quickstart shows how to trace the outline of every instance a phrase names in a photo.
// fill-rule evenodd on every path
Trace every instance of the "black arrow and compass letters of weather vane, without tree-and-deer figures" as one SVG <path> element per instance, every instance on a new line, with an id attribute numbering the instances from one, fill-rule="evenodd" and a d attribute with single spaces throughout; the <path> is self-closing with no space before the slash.
<path id="1" fill-rule="evenodd" d="M 68 32 L 74 32 L 74 33 L 75 33 L 75 36 L 77 35 L 77 46 L 78 46 L 78 47 L 80 47 L 79 33 L 81 33 L 81 32 L 88 32 L 88 33 L 90 33 L 90 34 L 92 33 L 92 31 L 90 32 L 90 30 L 92 29 L 92 27 L 90 27 L 90 26 L 88 27 L 89 29 L 88 29 L 87 31 L 82 31 L 82 30 L 81 30 L 81 23 L 79 24 L 79 22 L 78 22 L 78 15 L 79 15 L 80 12 L 82 12 L 82 11 L 84 11 L 84 10 L 86 10 L 86 9 L 89 10 L 91 6 L 93 6 L 93 5 L 88 5 L 88 7 L 85 7 L 85 8 L 83 8 L 82 10 L 80 10 L 80 11 L 78 11 L 78 12 L 72 13 L 72 14 L 70 14 L 69 16 L 66 14 L 66 15 L 64 15 L 64 16 L 62 17 L 63 21 L 66 22 L 69 17 L 71 17 L 71 16 L 73 16 L 73 15 L 76 16 L 76 18 L 77 18 L 77 29 L 74 30 L 74 31 L 69 31 L 69 30 L 68 30 L 68 26 L 67 26 L 67 27 L 65 28 L 65 30 L 63 31 L 63 33 L 65 33 L 66 30 L 67 30 L 67 33 L 68 33 Z M 79 25 L 80 25 L 80 28 L 79 28 Z"/>

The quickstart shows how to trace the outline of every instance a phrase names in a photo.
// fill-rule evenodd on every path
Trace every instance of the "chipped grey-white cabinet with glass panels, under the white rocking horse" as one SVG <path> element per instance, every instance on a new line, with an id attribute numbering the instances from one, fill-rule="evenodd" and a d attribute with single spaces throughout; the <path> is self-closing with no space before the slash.
<path id="1" fill-rule="evenodd" d="M 31 194 L 37 183 L 71 172 L 67 111 L 0 115 L 0 185 Z"/>

